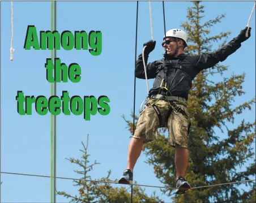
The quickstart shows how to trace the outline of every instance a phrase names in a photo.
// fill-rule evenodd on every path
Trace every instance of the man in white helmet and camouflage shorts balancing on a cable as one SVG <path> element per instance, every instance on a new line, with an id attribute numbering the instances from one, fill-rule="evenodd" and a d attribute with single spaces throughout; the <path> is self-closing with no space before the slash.
<path id="1" fill-rule="evenodd" d="M 248 35 L 246 36 L 246 31 Z M 214 67 L 225 61 L 241 47 L 241 43 L 250 37 L 251 28 L 246 27 L 227 45 L 212 53 L 186 55 L 186 32 L 181 29 L 170 29 L 165 33 L 162 46 L 166 50 L 164 58 L 147 64 L 156 41 L 148 41 L 143 46 L 147 79 L 154 79 L 148 93 L 146 108 L 140 113 L 136 130 L 130 141 L 127 157 L 127 169 L 118 183 L 129 184 L 133 181 L 133 169 L 142 151 L 143 143 L 152 141 L 159 127 L 169 130 L 169 144 L 175 148 L 176 194 L 185 193 L 190 184 L 185 180 L 188 165 L 187 137 L 190 132 L 190 121 L 187 116 L 187 100 L 191 83 L 200 71 Z M 146 79 L 143 56 L 139 55 L 135 64 L 135 77 Z"/>

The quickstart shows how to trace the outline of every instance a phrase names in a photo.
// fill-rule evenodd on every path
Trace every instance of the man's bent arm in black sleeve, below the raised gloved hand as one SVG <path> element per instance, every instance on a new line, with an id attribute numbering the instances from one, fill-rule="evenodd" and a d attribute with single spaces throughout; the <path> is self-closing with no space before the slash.
<path id="1" fill-rule="evenodd" d="M 148 55 L 146 54 L 144 54 L 144 59 L 145 59 L 146 70 L 147 70 L 147 79 L 155 78 L 156 70 L 157 70 L 157 67 L 155 66 L 155 62 L 147 64 Z M 135 64 L 135 77 L 139 79 L 146 79 L 142 54 L 139 55 L 139 58 L 137 59 Z"/>

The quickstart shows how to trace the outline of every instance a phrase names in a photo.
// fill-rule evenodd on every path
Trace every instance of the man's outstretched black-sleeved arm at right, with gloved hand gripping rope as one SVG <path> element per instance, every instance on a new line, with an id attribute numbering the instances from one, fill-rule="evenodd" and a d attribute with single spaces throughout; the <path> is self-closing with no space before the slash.
<path id="1" fill-rule="evenodd" d="M 203 69 L 214 67 L 217 63 L 225 61 L 229 55 L 233 54 L 237 49 L 241 47 L 241 43 L 248 40 L 250 37 L 250 29 L 248 37 L 245 36 L 247 27 L 243 29 L 237 37 L 234 37 L 227 45 L 220 47 L 220 49 L 212 53 L 203 53 L 197 56 L 194 64 L 197 71 L 200 72 Z"/>

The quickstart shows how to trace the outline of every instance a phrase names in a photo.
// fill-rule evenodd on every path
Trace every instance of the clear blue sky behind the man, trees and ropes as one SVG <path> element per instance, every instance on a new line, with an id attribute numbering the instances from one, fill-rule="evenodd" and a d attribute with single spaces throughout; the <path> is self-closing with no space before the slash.
<path id="1" fill-rule="evenodd" d="M 156 48 L 149 61 L 159 59 L 163 54 L 161 40 L 164 35 L 162 2 L 152 3 L 153 38 Z M 186 20 L 187 7 L 191 2 L 165 2 L 166 29 L 180 28 Z M 226 14 L 221 23 L 212 28 L 211 36 L 231 31 L 232 40 L 244 29 L 254 2 L 203 2 L 203 21 Z M 58 2 L 57 30 L 63 32 L 98 30 L 103 33 L 103 51 L 94 57 L 88 50 L 58 50 L 57 57 L 63 63 L 78 63 L 82 68 L 80 83 L 57 84 L 57 95 L 67 90 L 70 96 L 105 95 L 110 99 L 110 114 L 96 114 L 90 121 L 83 116 L 57 116 L 57 176 L 79 178 L 78 169 L 66 158 L 80 158 L 81 141 L 86 142 L 89 134 L 88 152 L 90 161 L 100 162 L 91 172 L 92 179 L 107 175 L 110 179 L 120 178 L 126 169 L 127 147 L 130 133 L 122 114 L 131 119 L 134 100 L 134 54 L 136 2 Z M 50 57 L 50 50 L 24 50 L 28 25 L 35 25 L 37 31 L 50 30 L 50 2 L 14 2 L 14 61 L 10 61 L 11 44 L 11 2 L 1 2 L 1 170 L 25 174 L 50 175 L 50 114 L 20 116 L 16 111 L 16 93 L 23 90 L 26 96 L 50 97 L 50 84 L 46 81 L 44 64 Z M 245 96 L 234 101 L 239 105 L 255 96 L 255 11 L 250 21 L 251 38 L 225 62 L 228 65 L 225 76 L 245 72 L 243 84 Z M 139 2 L 138 51 L 143 43 L 151 40 L 148 2 Z M 217 44 L 213 44 L 217 48 Z M 215 78 L 220 81 L 221 77 Z M 153 80 L 149 81 L 150 88 Z M 140 103 L 147 96 L 145 80 L 136 80 L 136 114 Z M 237 126 L 242 118 L 255 120 L 255 105 L 251 111 L 237 116 Z M 232 126 L 232 125 L 231 125 Z M 219 134 L 219 136 L 223 136 Z M 224 135 L 225 136 L 225 135 Z M 255 150 L 254 150 L 255 152 Z M 161 185 L 155 178 L 152 167 L 148 167 L 144 154 L 134 169 L 134 180 L 139 184 Z M 251 161 L 252 162 L 252 161 Z M 248 162 L 248 163 L 251 163 Z M 1 174 L 2 202 L 49 202 L 50 179 L 31 176 Z M 117 185 L 114 185 L 117 186 Z M 162 185 L 163 186 L 163 185 Z M 126 186 L 127 187 L 127 186 Z M 174 185 L 173 185 L 174 187 Z M 71 180 L 57 180 L 57 190 L 76 194 Z M 157 188 L 146 188 L 148 195 L 156 191 L 166 202 Z M 14 195 L 15 194 L 15 195 Z M 57 202 L 68 202 L 57 196 Z"/>

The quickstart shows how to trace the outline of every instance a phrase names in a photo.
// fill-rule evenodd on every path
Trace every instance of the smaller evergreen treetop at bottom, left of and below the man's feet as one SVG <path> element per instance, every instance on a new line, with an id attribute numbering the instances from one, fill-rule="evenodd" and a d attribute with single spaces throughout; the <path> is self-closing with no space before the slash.
<path id="1" fill-rule="evenodd" d="M 82 142 L 83 144 L 83 142 Z M 87 137 L 87 145 L 83 144 L 83 150 L 80 150 L 83 153 L 81 159 L 69 158 L 68 160 L 71 163 L 75 163 L 82 170 L 76 170 L 77 174 L 81 174 L 82 178 L 79 180 L 74 180 L 74 186 L 79 187 L 78 192 L 79 195 L 70 195 L 63 191 L 58 191 L 57 194 L 64 196 L 70 200 L 70 202 L 76 203 L 128 203 L 131 202 L 131 187 L 114 187 L 114 183 L 104 183 L 104 182 L 113 182 L 110 180 L 111 170 L 108 171 L 108 175 L 105 178 L 97 179 L 103 182 L 93 182 L 93 181 L 84 181 L 91 180 L 91 176 L 89 175 L 89 171 L 93 169 L 93 167 L 99 164 L 95 161 L 92 164 L 89 164 L 89 154 L 88 154 L 88 137 Z M 117 180 L 114 180 L 117 182 Z M 135 183 L 136 184 L 136 183 Z M 158 196 L 153 193 L 150 197 L 144 193 L 144 189 L 139 186 L 133 187 L 133 202 L 147 202 L 147 203 L 164 203 L 159 199 Z"/>

